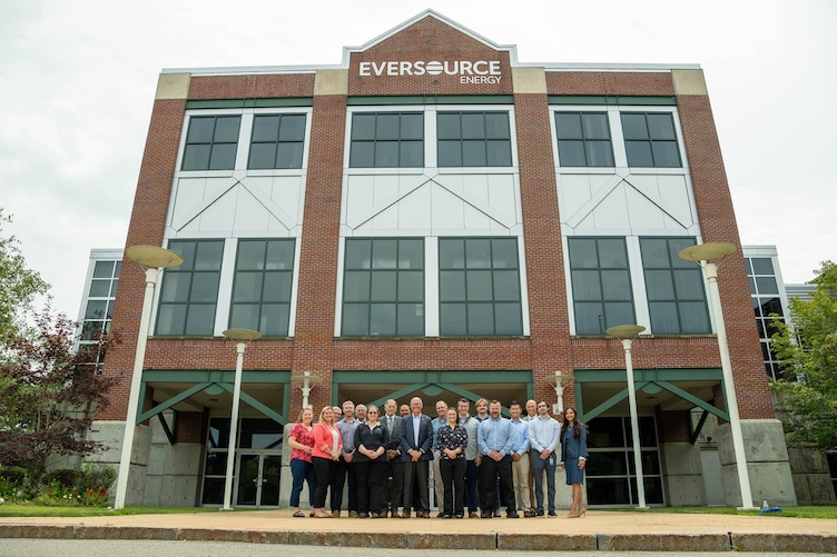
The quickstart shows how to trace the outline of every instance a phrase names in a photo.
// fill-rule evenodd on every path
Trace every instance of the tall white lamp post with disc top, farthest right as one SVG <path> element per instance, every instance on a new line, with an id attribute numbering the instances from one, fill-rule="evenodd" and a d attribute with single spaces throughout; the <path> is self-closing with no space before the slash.
<path id="1" fill-rule="evenodd" d="M 732 448 L 736 454 L 736 468 L 738 469 L 738 485 L 741 490 L 740 509 L 754 509 L 752 491 L 750 490 L 750 476 L 747 470 L 747 457 L 744 449 L 744 434 L 741 432 L 741 419 L 738 415 L 738 398 L 736 397 L 736 381 L 732 377 L 732 362 L 729 358 L 729 344 L 727 341 L 727 328 L 723 325 L 723 310 L 721 308 L 721 295 L 718 289 L 718 265 L 716 259 L 723 259 L 736 251 L 735 243 L 709 242 L 691 246 L 681 250 L 677 256 L 686 261 L 695 261 L 702 269 L 709 282 L 709 298 L 715 316 L 716 334 L 718 335 L 718 350 L 721 355 L 721 371 L 723 386 L 727 394 L 727 410 L 729 411 L 729 427 L 732 434 Z M 705 262 L 701 262 L 705 261 Z"/>

